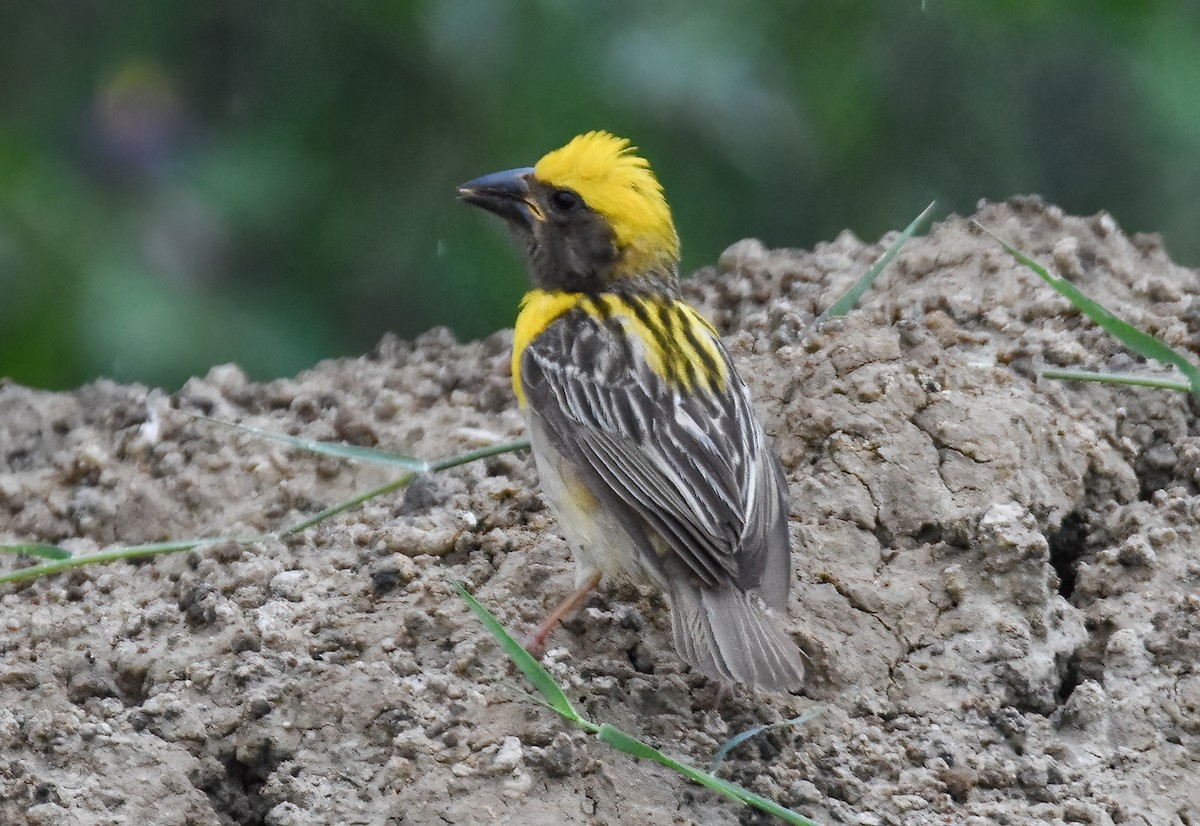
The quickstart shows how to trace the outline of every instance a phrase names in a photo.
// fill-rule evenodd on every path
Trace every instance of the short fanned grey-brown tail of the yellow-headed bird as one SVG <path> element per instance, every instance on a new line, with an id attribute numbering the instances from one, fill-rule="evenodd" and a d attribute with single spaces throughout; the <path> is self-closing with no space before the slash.
<path id="1" fill-rule="evenodd" d="M 709 677 L 775 692 L 804 682 L 800 650 L 755 594 L 672 588 L 671 626 L 679 656 Z"/>

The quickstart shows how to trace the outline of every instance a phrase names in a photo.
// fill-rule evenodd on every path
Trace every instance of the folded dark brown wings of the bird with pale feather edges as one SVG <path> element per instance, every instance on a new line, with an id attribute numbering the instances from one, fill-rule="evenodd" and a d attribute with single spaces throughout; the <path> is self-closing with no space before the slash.
<path id="1" fill-rule="evenodd" d="M 614 322 L 575 311 L 526 348 L 521 376 L 530 415 L 562 455 L 636 511 L 703 585 L 745 588 L 762 580 L 772 543 L 784 543 L 786 565 L 782 478 L 745 385 L 712 341 L 725 387 L 689 389 L 656 373 Z"/>

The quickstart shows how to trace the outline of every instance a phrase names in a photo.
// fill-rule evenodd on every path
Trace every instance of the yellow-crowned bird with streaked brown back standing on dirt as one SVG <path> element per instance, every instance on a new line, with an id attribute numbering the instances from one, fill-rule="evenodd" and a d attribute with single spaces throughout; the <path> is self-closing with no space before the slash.
<path id="1" fill-rule="evenodd" d="M 527 647 L 540 656 L 601 577 L 626 576 L 665 594 L 694 669 L 797 690 L 787 483 L 720 335 L 682 297 L 671 208 L 637 152 L 592 131 L 458 187 L 524 252 L 512 387 L 576 564 Z"/>

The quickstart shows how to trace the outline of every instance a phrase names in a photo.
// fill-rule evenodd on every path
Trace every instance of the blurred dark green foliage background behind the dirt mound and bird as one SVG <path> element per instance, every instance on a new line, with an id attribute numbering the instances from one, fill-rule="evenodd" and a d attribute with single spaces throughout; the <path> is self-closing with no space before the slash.
<path id="1" fill-rule="evenodd" d="M 1200 263 L 1200 4 L 0 2 L 0 376 L 176 388 L 511 324 L 455 185 L 629 136 L 684 269 L 979 198 Z"/>

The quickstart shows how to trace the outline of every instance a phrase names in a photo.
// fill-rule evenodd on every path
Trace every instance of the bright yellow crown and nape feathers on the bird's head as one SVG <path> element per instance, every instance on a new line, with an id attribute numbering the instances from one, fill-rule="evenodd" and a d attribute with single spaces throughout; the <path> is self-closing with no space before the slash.
<path id="1" fill-rule="evenodd" d="M 662 185 L 626 138 L 587 132 L 534 167 L 550 186 L 574 190 L 612 227 L 630 267 L 679 261 L 679 237 Z"/>

